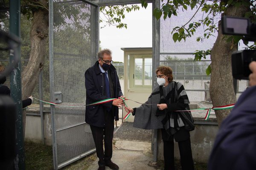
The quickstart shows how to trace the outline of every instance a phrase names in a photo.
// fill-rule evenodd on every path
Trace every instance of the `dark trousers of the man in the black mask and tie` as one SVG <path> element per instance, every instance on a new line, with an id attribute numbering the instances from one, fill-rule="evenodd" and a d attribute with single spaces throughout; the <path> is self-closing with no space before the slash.
<path id="1" fill-rule="evenodd" d="M 93 140 L 96 146 L 97 157 L 99 158 L 99 166 L 105 166 L 105 162 L 111 161 L 112 158 L 112 140 L 114 132 L 114 116 L 113 113 L 105 113 L 105 127 L 90 126 L 93 134 Z M 103 150 L 103 140 L 105 151 Z"/>

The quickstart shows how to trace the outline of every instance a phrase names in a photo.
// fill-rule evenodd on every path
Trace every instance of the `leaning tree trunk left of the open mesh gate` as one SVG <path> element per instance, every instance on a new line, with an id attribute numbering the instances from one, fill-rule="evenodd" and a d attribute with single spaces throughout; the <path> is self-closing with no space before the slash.
<path id="1" fill-rule="evenodd" d="M 44 2 L 42 2 L 44 1 Z M 42 0 L 45 4 L 47 0 Z M 47 10 L 38 9 L 33 12 L 32 28 L 30 32 L 31 51 L 29 62 L 22 75 L 22 99 L 27 99 L 33 92 L 40 70 L 44 66 L 48 37 L 49 14 Z M 23 111 L 23 134 L 25 135 L 26 111 Z"/>

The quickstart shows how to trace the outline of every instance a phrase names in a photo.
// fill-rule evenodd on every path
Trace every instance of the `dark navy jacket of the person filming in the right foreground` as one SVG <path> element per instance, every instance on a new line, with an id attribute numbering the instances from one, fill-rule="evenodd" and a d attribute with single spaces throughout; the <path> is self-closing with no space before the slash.
<path id="1" fill-rule="evenodd" d="M 222 122 L 208 169 L 256 169 L 256 86 L 244 91 Z"/>

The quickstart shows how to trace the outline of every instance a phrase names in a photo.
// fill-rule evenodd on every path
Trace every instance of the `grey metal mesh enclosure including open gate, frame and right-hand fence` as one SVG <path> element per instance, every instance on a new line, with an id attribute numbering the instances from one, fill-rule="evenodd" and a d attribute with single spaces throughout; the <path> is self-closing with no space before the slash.
<path id="1" fill-rule="evenodd" d="M 160 8 L 162 4 L 160 0 L 147 2 L 152 3 L 152 10 Z M 139 0 L 49 0 L 51 101 L 59 100 L 57 94 L 63 94 L 60 106 L 51 105 L 54 169 L 64 167 L 95 151 L 90 126 L 84 122 L 84 71 L 96 61 L 99 50 L 99 6 L 139 3 Z M 194 62 L 193 53 L 195 50 L 212 48 L 215 37 L 195 43 L 197 35 L 204 31 L 203 28 L 198 28 L 198 32 L 186 42 L 174 43 L 172 40 L 172 28 L 185 22 L 193 14 L 194 11 L 188 9 L 186 14 L 166 20 L 163 17 L 156 20 L 152 16 L 152 73 L 159 65 L 169 65 L 173 69 L 174 80 L 184 85 L 192 107 L 209 108 L 212 107 L 209 97 L 210 77 L 206 75 L 205 69 L 210 64 L 210 59 Z M 202 17 L 201 15 L 199 12 L 194 19 Z M 219 19 L 220 16 L 215 17 L 216 21 Z M 152 81 L 154 89 L 156 79 L 153 78 Z M 237 97 L 247 85 L 247 81 L 237 81 Z M 81 107 L 72 108 L 72 105 Z M 193 116 L 197 122 L 207 123 L 202 121 L 205 113 L 193 112 Z M 210 123 L 216 124 L 214 111 L 210 118 Z M 153 161 L 157 161 L 157 131 L 154 130 L 152 134 Z"/>

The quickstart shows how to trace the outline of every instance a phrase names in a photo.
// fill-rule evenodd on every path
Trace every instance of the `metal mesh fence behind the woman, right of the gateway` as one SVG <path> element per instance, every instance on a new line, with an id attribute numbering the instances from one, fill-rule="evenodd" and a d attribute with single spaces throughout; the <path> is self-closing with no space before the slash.
<path id="1" fill-rule="evenodd" d="M 164 1 L 165 2 L 165 1 Z M 209 82 L 210 76 L 206 75 L 206 69 L 210 64 L 210 58 L 207 57 L 201 62 L 193 61 L 193 53 L 196 50 L 211 49 L 216 37 L 217 32 L 213 32 L 214 36 L 209 39 L 197 42 L 197 38 L 204 37 L 204 26 L 198 27 L 192 37 L 180 42 L 172 40 L 172 29 L 176 26 L 182 26 L 187 23 L 195 14 L 197 9 L 189 9 L 186 12 L 178 11 L 178 16 L 172 16 L 171 19 L 160 19 L 160 65 L 168 65 L 173 69 L 174 81 L 181 82 L 186 89 L 191 103 L 190 108 L 212 108 L 212 102 L 209 96 Z M 198 21 L 204 18 L 205 14 L 198 11 L 194 18 L 189 22 Z M 214 17 L 213 22 L 218 23 L 221 15 L 218 14 Z M 248 81 L 237 81 L 237 98 L 241 92 L 248 86 Z M 195 121 L 205 122 L 204 117 L 206 111 L 193 111 L 192 116 Z M 217 122 L 215 112 L 211 110 L 209 122 Z"/>

